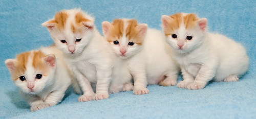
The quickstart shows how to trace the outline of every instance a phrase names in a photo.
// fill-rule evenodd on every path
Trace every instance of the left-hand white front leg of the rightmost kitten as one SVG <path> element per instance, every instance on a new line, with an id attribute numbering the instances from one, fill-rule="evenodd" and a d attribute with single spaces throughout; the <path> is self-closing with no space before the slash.
<path id="1" fill-rule="evenodd" d="M 179 82 L 177 84 L 177 87 L 179 88 L 187 88 L 188 84 L 190 83 L 193 83 L 194 81 L 194 77 L 193 75 L 189 74 L 187 72 L 187 70 L 185 69 L 184 66 L 180 66 L 181 67 L 181 74 L 182 74 L 182 78 L 183 78 L 183 81 Z"/>

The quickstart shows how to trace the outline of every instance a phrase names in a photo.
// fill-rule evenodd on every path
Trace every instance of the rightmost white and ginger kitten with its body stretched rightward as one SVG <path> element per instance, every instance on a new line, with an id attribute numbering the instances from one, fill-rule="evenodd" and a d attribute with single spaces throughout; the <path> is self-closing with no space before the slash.
<path id="1" fill-rule="evenodd" d="M 207 32 L 207 19 L 196 14 L 177 13 L 162 16 L 167 43 L 180 64 L 183 81 L 180 88 L 201 89 L 207 82 L 238 81 L 249 65 L 244 47 L 219 34 Z"/>

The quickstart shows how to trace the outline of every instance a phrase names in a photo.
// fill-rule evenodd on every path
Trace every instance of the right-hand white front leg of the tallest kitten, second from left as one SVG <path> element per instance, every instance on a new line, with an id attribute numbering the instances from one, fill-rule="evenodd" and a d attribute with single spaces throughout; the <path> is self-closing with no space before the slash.
<path id="1" fill-rule="evenodd" d="M 97 69 L 97 84 L 95 100 L 102 100 L 109 98 L 109 85 L 112 74 L 112 68 Z"/>

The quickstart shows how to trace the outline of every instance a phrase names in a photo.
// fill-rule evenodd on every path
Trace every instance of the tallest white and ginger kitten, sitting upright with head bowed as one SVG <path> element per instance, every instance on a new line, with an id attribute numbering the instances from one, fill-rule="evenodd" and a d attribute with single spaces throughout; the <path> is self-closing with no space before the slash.
<path id="1" fill-rule="evenodd" d="M 83 95 L 79 102 L 109 98 L 112 61 L 109 44 L 94 26 L 94 18 L 80 9 L 62 10 L 42 23 L 76 76 Z M 92 85 L 96 84 L 96 93 Z"/>

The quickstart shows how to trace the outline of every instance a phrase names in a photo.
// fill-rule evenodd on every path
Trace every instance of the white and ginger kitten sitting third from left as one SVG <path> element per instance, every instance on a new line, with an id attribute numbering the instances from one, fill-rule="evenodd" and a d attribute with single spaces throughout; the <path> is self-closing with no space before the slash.
<path id="1" fill-rule="evenodd" d="M 134 19 L 102 22 L 103 34 L 115 53 L 110 90 L 133 89 L 134 94 L 146 94 L 147 84 L 176 85 L 179 66 L 170 57 L 170 46 L 159 30 L 148 29 Z"/>

